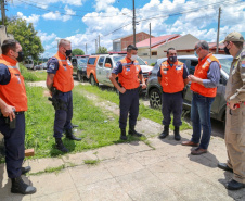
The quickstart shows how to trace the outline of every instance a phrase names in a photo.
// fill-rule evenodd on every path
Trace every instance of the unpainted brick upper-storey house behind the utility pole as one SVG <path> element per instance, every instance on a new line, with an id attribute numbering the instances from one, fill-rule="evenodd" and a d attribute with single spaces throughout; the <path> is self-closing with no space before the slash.
<path id="1" fill-rule="evenodd" d="M 136 42 L 140 42 L 146 38 L 150 38 L 150 35 L 144 32 L 136 34 Z M 154 36 L 152 36 L 152 38 L 154 38 Z M 133 45 L 133 35 L 115 39 L 113 40 L 113 52 L 125 51 L 130 43 Z"/>

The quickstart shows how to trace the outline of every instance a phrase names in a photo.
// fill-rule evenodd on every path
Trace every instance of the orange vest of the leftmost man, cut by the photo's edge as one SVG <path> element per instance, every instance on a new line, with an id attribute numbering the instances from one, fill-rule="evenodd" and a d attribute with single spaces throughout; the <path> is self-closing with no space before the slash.
<path id="1" fill-rule="evenodd" d="M 27 111 L 27 97 L 24 77 L 16 67 L 16 61 L 7 55 L 0 56 L 0 63 L 8 66 L 11 78 L 7 85 L 0 85 L 0 98 L 9 105 L 15 108 L 16 112 Z"/>

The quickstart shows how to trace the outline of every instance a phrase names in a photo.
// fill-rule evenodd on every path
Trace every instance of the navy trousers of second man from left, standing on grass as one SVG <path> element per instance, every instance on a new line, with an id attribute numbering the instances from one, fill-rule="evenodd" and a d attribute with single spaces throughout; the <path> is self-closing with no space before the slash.
<path id="1" fill-rule="evenodd" d="M 59 92 L 54 95 L 54 98 L 63 101 L 64 109 L 55 110 L 54 118 L 54 135 L 55 138 L 62 138 L 63 130 L 72 129 L 72 118 L 73 118 L 73 92 Z"/>

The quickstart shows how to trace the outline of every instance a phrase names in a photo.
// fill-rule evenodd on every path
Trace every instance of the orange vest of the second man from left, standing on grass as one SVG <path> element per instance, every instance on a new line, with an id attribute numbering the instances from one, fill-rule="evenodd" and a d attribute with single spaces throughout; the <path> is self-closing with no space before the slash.
<path id="1" fill-rule="evenodd" d="M 54 58 L 59 61 L 59 70 L 53 78 L 53 87 L 62 92 L 72 91 L 74 88 L 73 65 L 65 55 L 57 52 Z"/>

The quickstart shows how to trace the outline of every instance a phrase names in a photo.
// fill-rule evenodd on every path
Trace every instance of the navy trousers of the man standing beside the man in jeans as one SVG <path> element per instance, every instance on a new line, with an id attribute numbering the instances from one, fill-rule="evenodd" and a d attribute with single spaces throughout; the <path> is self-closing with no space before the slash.
<path id="1" fill-rule="evenodd" d="M 163 104 L 162 113 L 164 116 L 163 125 L 168 126 L 171 122 L 171 112 L 173 114 L 173 126 L 181 126 L 181 114 L 182 114 L 182 103 L 183 103 L 183 93 L 175 92 L 167 93 L 163 92 Z"/>

